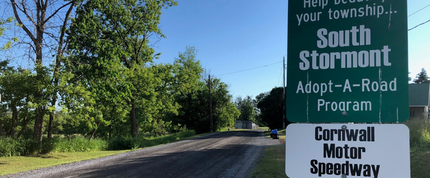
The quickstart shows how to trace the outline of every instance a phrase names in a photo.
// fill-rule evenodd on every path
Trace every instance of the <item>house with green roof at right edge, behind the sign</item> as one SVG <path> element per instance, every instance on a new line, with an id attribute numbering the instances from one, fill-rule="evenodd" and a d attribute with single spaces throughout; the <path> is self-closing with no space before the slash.
<path id="1" fill-rule="evenodd" d="M 428 118 L 430 83 L 409 84 L 409 117 Z"/>

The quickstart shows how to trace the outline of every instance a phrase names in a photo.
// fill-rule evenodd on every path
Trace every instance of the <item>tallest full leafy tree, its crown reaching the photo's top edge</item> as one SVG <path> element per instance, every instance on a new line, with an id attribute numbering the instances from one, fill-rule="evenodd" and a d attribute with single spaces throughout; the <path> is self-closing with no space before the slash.
<path id="1" fill-rule="evenodd" d="M 154 54 L 150 39 L 165 37 L 158 28 L 162 8 L 176 5 L 173 0 L 88 0 L 77 10 L 72 25 L 70 45 L 78 58 L 95 63 L 97 70 L 110 77 L 124 75 L 127 80 L 127 102 L 130 106 L 130 133 L 137 136 L 139 125 L 136 104 L 139 103 L 139 78 L 133 73 L 145 68 L 159 54 Z M 85 42 L 83 42 L 85 41 Z M 82 64 L 82 63 L 81 63 Z M 84 63 L 87 64 L 87 63 Z M 128 71 L 112 71 L 112 66 Z M 101 67 L 101 68 L 100 68 Z M 118 69 L 118 68 L 114 68 Z M 97 71 L 98 72 L 98 71 Z M 126 91 L 127 93 L 127 91 Z M 137 106 L 138 107 L 138 106 Z"/>

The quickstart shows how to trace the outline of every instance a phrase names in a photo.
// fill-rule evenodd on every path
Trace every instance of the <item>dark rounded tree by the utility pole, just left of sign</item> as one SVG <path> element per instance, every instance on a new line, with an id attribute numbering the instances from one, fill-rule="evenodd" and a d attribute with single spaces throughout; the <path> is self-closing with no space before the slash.
<path id="1" fill-rule="evenodd" d="M 268 94 L 258 95 L 257 107 L 260 110 L 261 120 L 267 124 L 269 129 L 281 129 L 283 127 L 283 104 L 285 98 L 283 88 L 275 87 Z M 286 124 L 288 124 L 288 120 Z"/>

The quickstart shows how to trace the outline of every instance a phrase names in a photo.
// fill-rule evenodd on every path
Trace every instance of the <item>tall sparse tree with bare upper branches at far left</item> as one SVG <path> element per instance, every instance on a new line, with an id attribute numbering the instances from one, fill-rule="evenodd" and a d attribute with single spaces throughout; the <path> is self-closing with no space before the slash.
<path id="1" fill-rule="evenodd" d="M 36 73 L 31 101 L 35 112 L 33 138 L 38 139 L 42 147 L 43 118 L 49 113 L 48 138 L 52 137 L 52 122 L 57 103 L 59 75 L 64 59 L 65 32 L 69 25 L 70 14 L 76 0 L 10 0 L 6 2 L 12 11 L 6 11 L 14 17 L 14 28 L 10 33 L 1 33 L 8 40 L 3 50 L 15 50 L 10 58 L 18 66 L 29 66 Z M 7 7 L 5 7 L 7 9 Z M 8 12 L 11 12 L 8 14 Z M 9 19 L 9 18 L 8 18 Z M 0 23 L 3 25 L 4 23 Z M 31 63 L 33 61 L 33 63 Z M 24 64 L 24 63 L 29 64 Z M 47 64 L 47 65 L 45 65 Z"/>

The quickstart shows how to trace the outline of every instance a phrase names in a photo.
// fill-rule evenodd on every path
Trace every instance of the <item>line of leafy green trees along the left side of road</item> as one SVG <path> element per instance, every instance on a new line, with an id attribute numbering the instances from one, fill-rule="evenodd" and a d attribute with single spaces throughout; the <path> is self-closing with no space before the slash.
<path id="1" fill-rule="evenodd" d="M 166 135 L 234 124 L 240 112 L 226 83 L 207 79 L 186 47 L 172 64 L 157 64 L 165 36 L 162 9 L 173 0 L 5 2 L 0 19 L 0 136 L 87 139 Z"/>

